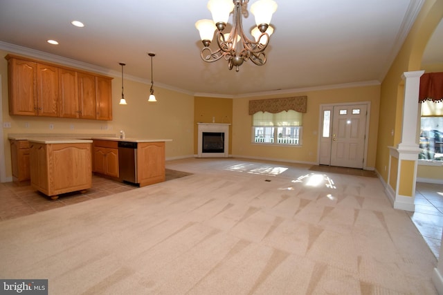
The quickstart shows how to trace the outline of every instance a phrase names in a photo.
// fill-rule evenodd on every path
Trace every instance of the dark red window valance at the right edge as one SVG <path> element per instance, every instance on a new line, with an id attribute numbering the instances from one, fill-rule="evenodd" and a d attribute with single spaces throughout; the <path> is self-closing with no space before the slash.
<path id="1" fill-rule="evenodd" d="M 420 77 L 418 101 L 443 102 L 443 73 L 426 73 Z"/>

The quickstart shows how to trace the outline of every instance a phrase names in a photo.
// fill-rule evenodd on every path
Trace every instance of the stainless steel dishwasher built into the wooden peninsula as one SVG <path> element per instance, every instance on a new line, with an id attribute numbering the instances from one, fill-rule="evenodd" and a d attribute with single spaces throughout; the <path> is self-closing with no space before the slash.
<path id="1" fill-rule="evenodd" d="M 118 173 L 121 180 L 137 183 L 136 142 L 118 142 Z"/>

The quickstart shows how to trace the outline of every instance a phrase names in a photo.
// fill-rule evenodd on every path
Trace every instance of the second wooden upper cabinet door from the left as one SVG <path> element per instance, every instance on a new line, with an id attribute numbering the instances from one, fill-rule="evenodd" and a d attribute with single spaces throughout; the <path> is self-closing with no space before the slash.
<path id="1" fill-rule="evenodd" d="M 38 115 L 58 117 L 58 68 L 37 64 L 37 108 Z"/>

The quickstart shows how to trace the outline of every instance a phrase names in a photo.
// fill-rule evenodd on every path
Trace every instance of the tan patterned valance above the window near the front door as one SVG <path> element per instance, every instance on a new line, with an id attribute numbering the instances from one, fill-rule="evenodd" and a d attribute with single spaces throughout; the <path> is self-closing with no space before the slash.
<path id="1" fill-rule="evenodd" d="M 256 99 L 249 101 L 249 115 L 257 112 L 280 113 L 282 111 L 297 111 L 306 113 L 307 96 Z"/>

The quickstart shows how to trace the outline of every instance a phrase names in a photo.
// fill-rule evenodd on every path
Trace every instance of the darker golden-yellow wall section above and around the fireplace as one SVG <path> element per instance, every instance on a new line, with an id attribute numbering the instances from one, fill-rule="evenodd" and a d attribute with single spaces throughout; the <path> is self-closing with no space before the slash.
<path id="1" fill-rule="evenodd" d="M 194 99 L 194 154 L 197 155 L 197 123 L 228 123 L 229 154 L 233 142 L 233 99 L 215 97 L 195 97 Z"/>

